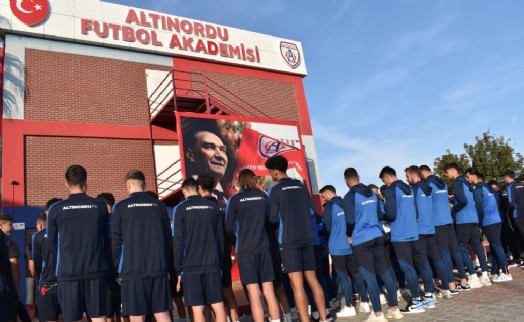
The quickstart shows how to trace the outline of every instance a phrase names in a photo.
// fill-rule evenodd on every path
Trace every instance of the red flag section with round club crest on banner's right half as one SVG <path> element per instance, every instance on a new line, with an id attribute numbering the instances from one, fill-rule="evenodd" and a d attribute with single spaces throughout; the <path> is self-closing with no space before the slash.
<path id="1" fill-rule="evenodd" d="M 302 150 L 247 126 L 242 131 L 235 173 L 250 169 L 256 176 L 267 176 L 266 160 L 275 155 L 285 157 L 288 160 L 288 169 L 295 169 L 309 187 L 309 175 Z"/>

